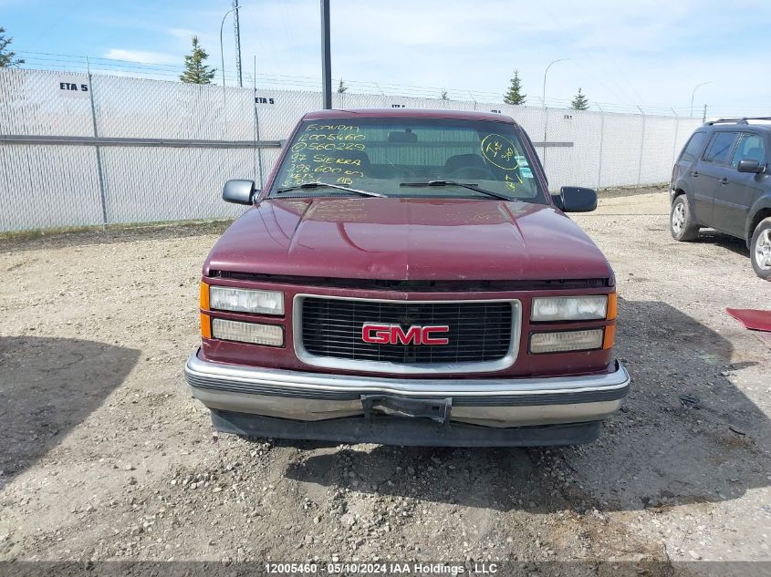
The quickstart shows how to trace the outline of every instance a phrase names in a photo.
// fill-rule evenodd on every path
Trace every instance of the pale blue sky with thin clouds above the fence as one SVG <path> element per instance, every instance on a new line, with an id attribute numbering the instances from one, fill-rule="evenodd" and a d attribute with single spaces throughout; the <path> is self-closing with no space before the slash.
<path id="1" fill-rule="evenodd" d="M 318 0 L 240 4 L 243 66 L 251 74 L 256 57 L 258 85 L 320 77 Z M 231 0 L 0 0 L 0 26 L 30 66 L 69 66 L 46 54 L 88 55 L 154 65 L 174 79 L 172 66 L 182 64 L 193 35 L 221 67 L 220 25 L 231 7 Z M 704 104 L 711 117 L 771 116 L 769 22 L 767 0 L 331 0 L 332 75 L 355 91 L 365 91 L 356 82 L 370 82 L 389 93 L 446 89 L 469 99 L 468 91 L 499 98 L 518 69 L 527 103 L 540 106 L 545 68 L 568 58 L 549 69 L 549 104 L 567 103 L 581 88 L 595 105 L 687 115 L 693 88 L 708 83 L 695 93 L 699 116 Z M 224 58 L 232 77 L 232 15 Z"/>

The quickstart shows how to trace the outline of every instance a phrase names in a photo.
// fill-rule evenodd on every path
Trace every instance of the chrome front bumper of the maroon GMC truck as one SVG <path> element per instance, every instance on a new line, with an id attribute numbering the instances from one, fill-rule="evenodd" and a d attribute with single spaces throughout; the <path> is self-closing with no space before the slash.
<path id="1" fill-rule="evenodd" d="M 184 372 L 193 397 L 214 411 L 320 421 L 363 415 L 362 396 L 449 398 L 451 421 L 493 428 L 597 421 L 630 388 L 618 362 L 614 372 L 592 376 L 405 379 L 226 365 L 195 353 Z"/>

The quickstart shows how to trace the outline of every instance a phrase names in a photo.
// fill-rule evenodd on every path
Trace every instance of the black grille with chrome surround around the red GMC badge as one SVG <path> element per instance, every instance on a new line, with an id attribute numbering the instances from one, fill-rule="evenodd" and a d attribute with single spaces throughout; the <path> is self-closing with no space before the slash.
<path id="1" fill-rule="evenodd" d="M 521 320 L 516 300 L 392 301 L 297 295 L 294 339 L 309 365 L 373 372 L 464 373 L 501 370 L 516 357 Z M 362 327 L 447 327 L 446 345 L 372 344 Z"/>

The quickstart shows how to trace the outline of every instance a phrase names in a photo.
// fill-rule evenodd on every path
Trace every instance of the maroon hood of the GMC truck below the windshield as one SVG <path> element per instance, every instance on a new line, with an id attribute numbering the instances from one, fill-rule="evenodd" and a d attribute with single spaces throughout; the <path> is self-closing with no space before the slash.
<path id="1" fill-rule="evenodd" d="M 262 201 L 224 232 L 214 271 L 383 280 L 609 278 L 599 249 L 544 204 L 475 199 Z"/>

